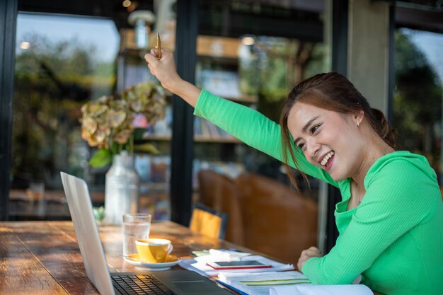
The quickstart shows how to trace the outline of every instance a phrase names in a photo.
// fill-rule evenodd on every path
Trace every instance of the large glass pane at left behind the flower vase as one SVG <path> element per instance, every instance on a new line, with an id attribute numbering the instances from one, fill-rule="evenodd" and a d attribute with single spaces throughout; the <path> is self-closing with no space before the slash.
<path id="1" fill-rule="evenodd" d="M 114 8 L 120 11 L 115 19 L 19 13 L 11 220 L 69 219 L 59 171 L 86 180 L 98 218 L 103 216 L 100 207 L 105 201 L 105 174 L 112 154 L 102 153 L 101 148 L 108 141 L 102 141 L 97 132 L 93 134 L 99 128 L 93 126 L 99 125 L 82 129 L 85 116 L 99 112 L 93 109 L 97 106 L 85 105 L 139 98 L 148 93 L 144 83 L 158 81 L 149 73 L 144 54 L 156 45 L 157 31 L 161 33 L 164 48 L 172 50 L 175 42 L 175 15 L 171 7 L 152 9 L 151 4 L 145 9 L 135 2 L 130 6 L 122 2 Z M 142 23 L 137 22 L 140 18 Z M 139 211 L 153 213 L 154 219 L 168 219 L 171 97 L 164 90 L 149 93 L 162 98 L 161 105 L 149 105 L 159 116 L 127 115 L 128 124 L 134 129 L 130 144 L 108 146 L 113 154 L 120 149 L 134 150 L 134 166 L 139 175 Z M 112 114 L 108 115 L 111 120 Z M 113 118 L 119 120 L 118 116 Z M 103 135 L 109 138 L 108 132 L 113 132 L 115 139 L 125 136 L 124 129 L 114 133 L 118 128 L 103 129 L 106 130 Z"/>

